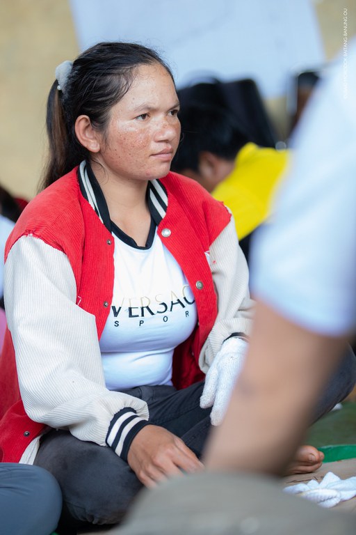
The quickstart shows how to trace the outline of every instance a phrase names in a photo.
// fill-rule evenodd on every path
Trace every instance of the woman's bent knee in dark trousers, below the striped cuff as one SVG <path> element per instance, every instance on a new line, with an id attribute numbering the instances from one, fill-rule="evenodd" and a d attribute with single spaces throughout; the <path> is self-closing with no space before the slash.
<path id="1" fill-rule="evenodd" d="M 35 463 L 56 476 L 65 509 L 81 522 L 119 522 L 142 488 L 129 465 L 113 450 L 67 432 L 48 437 Z"/>

